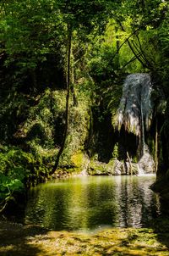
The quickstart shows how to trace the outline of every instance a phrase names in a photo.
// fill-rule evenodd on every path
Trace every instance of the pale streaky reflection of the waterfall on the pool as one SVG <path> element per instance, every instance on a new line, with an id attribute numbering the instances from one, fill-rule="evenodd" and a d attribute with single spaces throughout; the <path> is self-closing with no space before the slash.
<path id="1" fill-rule="evenodd" d="M 145 226 L 153 218 L 155 195 L 150 191 L 151 177 L 122 177 L 117 186 L 119 225 Z"/>

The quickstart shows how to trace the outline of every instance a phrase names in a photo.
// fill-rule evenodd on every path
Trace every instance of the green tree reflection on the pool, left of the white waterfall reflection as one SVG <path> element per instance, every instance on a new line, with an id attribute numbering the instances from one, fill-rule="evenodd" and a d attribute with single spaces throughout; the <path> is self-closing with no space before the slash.
<path id="1" fill-rule="evenodd" d="M 107 180 L 94 177 L 33 189 L 26 208 L 26 221 L 57 230 L 89 230 L 113 225 L 116 213 L 113 178 L 111 181 L 110 177 Z"/>

